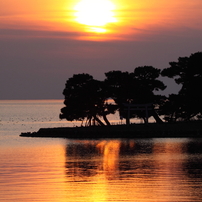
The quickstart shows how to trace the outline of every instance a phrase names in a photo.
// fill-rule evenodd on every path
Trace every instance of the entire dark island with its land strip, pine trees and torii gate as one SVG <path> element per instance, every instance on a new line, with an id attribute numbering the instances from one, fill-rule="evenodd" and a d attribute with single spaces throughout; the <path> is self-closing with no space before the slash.
<path id="1" fill-rule="evenodd" d="M 163 70 L 140 66 L 134 72 L 109 71 L 103 81 L 76 74 L 66 81 L 64 107 L 59 115 L 81 121 L 80 127 L 41 128 L 26 137 L 155 138 L 197 137 L 202 134 L 202 52 L 179 57 Z M 160 76 L 181 85 L 178 94 L 160 95 L 166 85 Z M 126 124 L 111 125 L 108 115 L 118 113 Z M 155 123 L 148 120 L 153 117 Z M 138 118 L 144 124 L 131 124 Z"/>

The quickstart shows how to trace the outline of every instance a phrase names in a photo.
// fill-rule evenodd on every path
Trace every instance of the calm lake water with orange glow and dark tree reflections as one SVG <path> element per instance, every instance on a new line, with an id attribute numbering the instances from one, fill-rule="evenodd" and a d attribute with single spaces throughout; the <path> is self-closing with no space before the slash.
<path id="1" fill-rule="evenodd" d="M 0 101 L 1 202 L 201 202 L 202 140 L 19 137 L 58 118 L 61 100 Z"/>

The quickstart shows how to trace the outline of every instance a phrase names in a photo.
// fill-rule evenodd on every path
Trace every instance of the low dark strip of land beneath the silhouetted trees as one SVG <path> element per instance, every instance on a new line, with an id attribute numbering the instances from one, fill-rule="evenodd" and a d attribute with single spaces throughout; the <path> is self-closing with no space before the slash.
<path id="1" fill-rule="evenodd" d="M 105 138 L 202 138 L 202 122 L 149 123 L 91 127 L 41 128 L 37 132 L 21 133 L 21 137 L 69 139 Z"/>

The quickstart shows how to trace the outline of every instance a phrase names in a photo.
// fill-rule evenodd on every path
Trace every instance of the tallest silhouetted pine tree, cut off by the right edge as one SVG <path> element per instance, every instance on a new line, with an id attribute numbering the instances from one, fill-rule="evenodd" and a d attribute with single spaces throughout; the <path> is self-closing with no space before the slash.
<path id="1" fill-rule="evenodd" d="M 172 121 L 190 120 L 202 113 L 202 52 L 191 54 L 190 57 L 179 57 L 178 62 L 170 62 L 170 67 L 162 71 L 162 76 L 174 78 L 182 87 L 178 95 L 171 95 L 167 105 L 171 105 Z M 164 113 L 168 113 L 165 106 Z M 166 112 L 167 111 L 167 112 Z M 174 116 L 175 114 L 175 116 Z"/>

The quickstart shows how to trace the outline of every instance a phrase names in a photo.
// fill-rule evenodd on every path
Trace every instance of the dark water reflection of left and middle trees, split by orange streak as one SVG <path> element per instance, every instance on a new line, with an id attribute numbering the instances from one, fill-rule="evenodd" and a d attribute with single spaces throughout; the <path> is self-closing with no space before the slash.
<path id="1" fill-rule="evenodd" d="M 104 174 L 108 179 L 126 178 L 131 173 L 151 174 L 151 168 L 154 167 L 152 162 L 147 158 L 136 159 L 135 156 L 151 154 L 152 147 L 151 141 L 134 140 L 82 141 L 68 144 L 66 174 L 74 180 L 98 174 Z"/>

